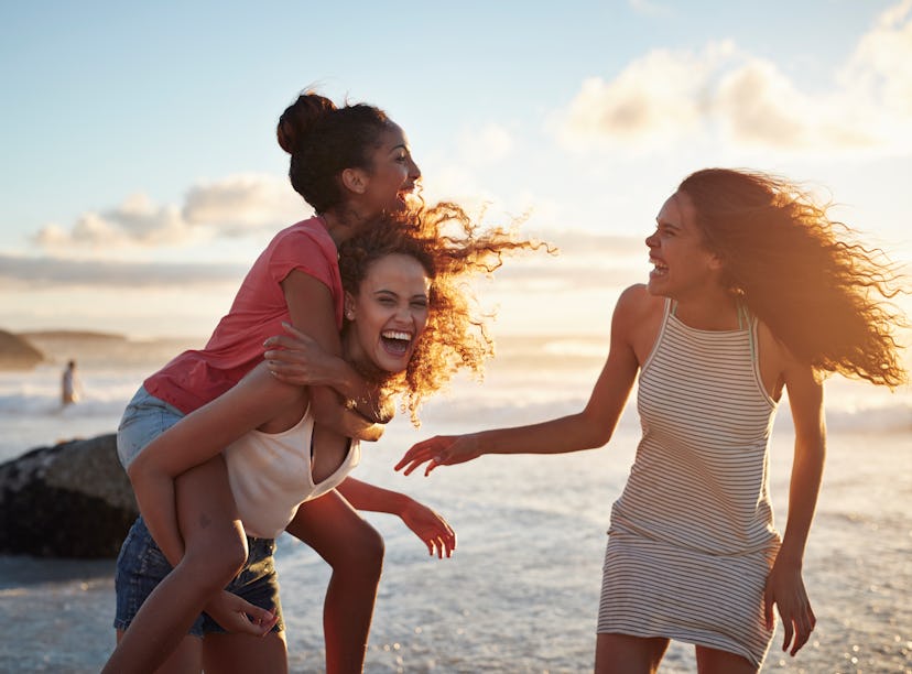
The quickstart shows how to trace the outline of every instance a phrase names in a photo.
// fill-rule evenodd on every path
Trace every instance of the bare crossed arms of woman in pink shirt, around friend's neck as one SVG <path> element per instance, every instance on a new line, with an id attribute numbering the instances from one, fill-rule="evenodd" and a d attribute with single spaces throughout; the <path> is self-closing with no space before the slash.
<path id="1" fill-rule="evenodd" d="M 349 406 L 368 421 L 388 422 L 392 416 L 391 407 L 381 402 L 377 387 L 366 382 L 340 358 L 341 343 L 336 330 L 335 307 L 329 289 L 304 272 L 292 271 L 282 281 L 282 290 L 297 334 L 291 331 L 292 338 L 276 336 L 268 340 L 270 347 L 280 347 L 271 348 L 267 356 L 280 363 L 279 368 L 273 368 L 275 376 L 286 383 L 314 385 L 314 418 L 335 427 L 339 433 L 350 435 L 341 420 L 346 412 L 351 411 L 332 389 L 350 401 Z M 287 356 L 293 359 L 287 360 Z M 293 367 L 283 368 L 282 362 L 286 366 L 300 363 L 301 370 L 296 372 Z"/>

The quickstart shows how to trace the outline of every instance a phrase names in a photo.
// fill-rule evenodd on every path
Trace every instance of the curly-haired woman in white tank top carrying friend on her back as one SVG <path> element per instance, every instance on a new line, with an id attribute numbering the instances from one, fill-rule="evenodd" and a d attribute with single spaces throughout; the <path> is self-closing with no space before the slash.
<path id="1" fill-rule="evenodd" d="M 343 358 L 349 368 L 380 391 L 381 400 L 399 398 L 417 424 L 421 401 L 446 384 L 459 369 L 480 373 L 491 345 L 485 319 L 477 315 L 462 284 L 476 273 L 498 267 L 504 253 L 535 247 L 506 230 L 475 231 L 468 217 L 452 205 L 403 210 L 377 217 L 361 235 L 339 246 L 345 323 Z M 318 379 L 304 384 L 272 376 L 265 362 L 254 367 L 234 388 L 184 416 L 153 439 L 130 464 L 138 499 L 154 511 L 169 498 L 158 482 L 174 481 L 186 470 L 224 456 L 231 496 L 248 537 L 250 556 L 226 588 L 263 611 L 264 638 L 228 633 L 204 616 L 200 620 L 200 660 L 209 672 L 282 672 L 287 667 L 281 622 L 278 579 L 273 566 L 274 539 L 284 530 L 314 545 L 321 555 L 358 563 L 362 533 L 351 529 L 339 508 L 399 515 L 425 543 L 430 553 L 449 556 L 456 536 L 431 509 L 409 497 L 348 477 L 357 466 L 360 445 L 314 423 L 315 385 L 341 387 L 339 358 L 319 354 L 311 340 L 308 358 Z M 293 359 L 300 360 L 296 356 Z M 354 539 L 348 537 L 351 532 Z M 219 551 L 208 551 L 210 555 Z M 138 520 L 118 561 L 118 620 L 129 624 L 138 607 L 124 606 L 121 595 L 135 600 L 138 585 L 149 595 L 156 586 L 160 620 L 178 623 L 184 608 L 161 585 L 171 566 L 149 529 Z M 363 583 L 330 580 L 333 593 L 349 595 L 345 612 L 327 606 L 327 671 L 360 671 L 367 645 L 377 575 Z M 202 584 L 202 583 L 200 583 Z M 207 587 L 207 586 L 204 586 Z M 221 588 L 218 588 L 221 591 Z M 351 595 L 358 595 L 352 597 Z M 140 597 L 140 601 L 142 597 Z M 200 593 L 198 613 L 210 600 Z M 193 640 L 199 642 L 199 640 Z M 109 663 L 110 664 L 110 663 Z M 154 665 L 153 665 L 154 666 Z M 169 671 L 198 671 L 199 662 L 170 662 Z"/>

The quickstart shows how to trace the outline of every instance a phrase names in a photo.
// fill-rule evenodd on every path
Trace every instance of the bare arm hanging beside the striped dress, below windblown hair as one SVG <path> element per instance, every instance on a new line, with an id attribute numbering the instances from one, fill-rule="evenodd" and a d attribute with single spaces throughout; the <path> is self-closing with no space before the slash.
<path id="1" fill-rule="evenodd" d="M 816 623 L 802 579 L 802 565 L 823 477 L 826 431 L 823 385 L 815 380 L 810 366 L 790 360 L 784 379 L 795 425 L 795 448 L 789 483 L 789 519 L 767 580 L 764 609 L 771 629 L 772 605 L 777 605 L 784 630 L 782 650 L 789 650 L 791 643 L 790 653 L 794 655 L 807 642 Z"/>

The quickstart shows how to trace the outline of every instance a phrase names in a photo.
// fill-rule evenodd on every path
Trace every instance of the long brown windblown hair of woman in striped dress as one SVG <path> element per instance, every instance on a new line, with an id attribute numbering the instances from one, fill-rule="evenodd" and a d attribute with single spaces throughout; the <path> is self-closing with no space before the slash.
<path id="1" fill-rule="evenodd" d="M 882 250 L 827 216 L 795 184 L 768 174 L 707 168 L 678 189 L 693 202 L 726 281 L 777 339 L 821 373 L 894 388 L 906 380 L 890 302 L 903 276 Z"/>

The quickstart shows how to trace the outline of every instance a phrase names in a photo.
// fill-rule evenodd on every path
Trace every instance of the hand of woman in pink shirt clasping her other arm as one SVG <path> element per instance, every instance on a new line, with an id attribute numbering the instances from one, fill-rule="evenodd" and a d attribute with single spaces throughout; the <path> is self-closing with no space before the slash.
<path id="1" fill-rule="evenodd" d="M 293 325 L 283 323 L 286 335 L 273 335 L 263 346 L 269 371 L 280 381 L 298 387 L 329 384 L 334 382 L 332 358 L 317 344 Z"/>

